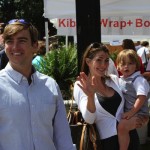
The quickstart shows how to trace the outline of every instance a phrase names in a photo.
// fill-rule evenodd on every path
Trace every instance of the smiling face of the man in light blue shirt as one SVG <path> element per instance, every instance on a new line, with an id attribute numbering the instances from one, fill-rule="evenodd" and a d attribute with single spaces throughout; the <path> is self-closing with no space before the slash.
<path id="1" fill-rule="evenodd" d="M 5 51 L 11 66 L 30 67 L 32 65 L 33 53 L 38 44 L 31 42 L 28 30 L 22 30 L 5 41 Z"/>

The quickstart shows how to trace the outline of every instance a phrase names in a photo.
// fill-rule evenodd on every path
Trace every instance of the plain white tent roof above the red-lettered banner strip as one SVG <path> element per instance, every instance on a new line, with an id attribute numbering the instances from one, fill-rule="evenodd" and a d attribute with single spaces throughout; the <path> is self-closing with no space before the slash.
<path id="1" fill-rule="evenodd" d="M 149 0 L 100 0 L 101 17 L 149 16 Z M 75 18 L 75 0 L 44 0 L 44 17 Z"/>

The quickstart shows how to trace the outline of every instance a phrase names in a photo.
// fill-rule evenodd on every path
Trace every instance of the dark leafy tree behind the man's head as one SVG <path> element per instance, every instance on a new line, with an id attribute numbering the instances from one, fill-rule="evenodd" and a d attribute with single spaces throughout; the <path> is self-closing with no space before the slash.
<path id="1" fill-rule="evenodd" d="M 43 8 L 43 0 L 0 0 L 0 22 L 7 23 L 14 18 L 24 18 L 37 27 L 39 38 L 42 39 L 45 36 Z M 55 34 L 52 24 L 49 28 L 52 28 Z"/>

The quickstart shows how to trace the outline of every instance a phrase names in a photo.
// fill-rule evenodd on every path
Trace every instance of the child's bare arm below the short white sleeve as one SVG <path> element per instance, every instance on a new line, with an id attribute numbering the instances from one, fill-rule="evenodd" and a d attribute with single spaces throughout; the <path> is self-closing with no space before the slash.
<path id="1" fill-rule="evenodd" d="M 132 116 L 134 116 L 140 110 L 140 108 L 143 106 L 145 100 L 146 100 L 145 95 L 138 95 L 133 108 L 130 111 L 125 112 L 123 114 L 122 118 L 130 119 Z"/>

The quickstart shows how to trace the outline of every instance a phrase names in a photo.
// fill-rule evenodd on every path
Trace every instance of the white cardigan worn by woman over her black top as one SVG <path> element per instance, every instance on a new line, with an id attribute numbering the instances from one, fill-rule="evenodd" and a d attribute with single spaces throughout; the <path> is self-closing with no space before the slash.
<path id="1" fill-rule="evenodd" d="M 117 122 L 119 122 L 121 119 L 124 107 L 124 98 L 121 90 L 119 89 L 118 77 L 116 75 L 110 75 L 110 80 L 106 80 L 106 84 L 117 91 L 122 98 L 121 103 L 117 109 L 116 116 L 110 114 L 100 105 L 96 94 L 96 111 L 95 113 L 89 112 L 87 109 L 87 95 L 82 91 L 77 83 L 79 83 L 79 81 L 76 81 L 74 85 L 74 99 L 83 115 L 84 120 L 89 124 L 93 124 L 94 122 L 96 123 L 101 139 L 106 139 L 117 135 Z"/>

